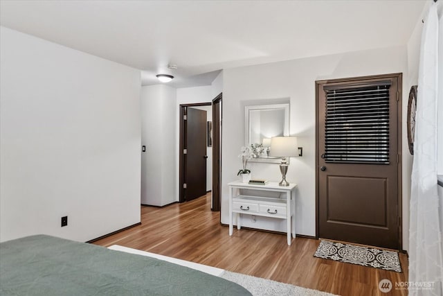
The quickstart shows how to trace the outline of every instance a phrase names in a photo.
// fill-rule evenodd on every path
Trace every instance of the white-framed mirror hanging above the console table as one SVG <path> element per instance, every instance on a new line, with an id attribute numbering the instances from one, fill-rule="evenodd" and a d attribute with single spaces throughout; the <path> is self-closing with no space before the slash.
<path id="1" fill-rule="evenodd" d="M 245 145 L 259 147 L 250 162 L 280 164 L 280 157 L 268 155 L 269 144 L 271 137 L 289 136 L 289 103 L 245 106 L 244 118 Z"/>

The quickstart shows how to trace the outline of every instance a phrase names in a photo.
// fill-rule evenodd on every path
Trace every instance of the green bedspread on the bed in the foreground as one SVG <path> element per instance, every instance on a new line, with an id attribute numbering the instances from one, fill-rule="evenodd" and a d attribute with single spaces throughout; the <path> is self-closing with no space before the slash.
<path id="1" fill-rule="evenodd" d="M 166 261 L 37 235 L 0 243 L 0 295 L 251 295 Z"/>

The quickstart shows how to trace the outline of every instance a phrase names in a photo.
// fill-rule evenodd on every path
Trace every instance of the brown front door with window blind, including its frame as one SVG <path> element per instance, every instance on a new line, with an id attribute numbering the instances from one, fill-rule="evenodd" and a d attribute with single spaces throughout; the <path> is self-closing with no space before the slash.
<path id="1" fill-rule="evenodd" d="M 401 248 L 401 74 L 316 82 L 318 236 Z"/>

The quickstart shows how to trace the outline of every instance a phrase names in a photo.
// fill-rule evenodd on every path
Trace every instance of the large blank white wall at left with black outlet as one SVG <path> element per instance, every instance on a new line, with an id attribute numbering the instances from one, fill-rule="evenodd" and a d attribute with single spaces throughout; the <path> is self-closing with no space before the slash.
<path id="1" fill-rule="evenodd" d="M 140 71 L 0 36 L 0 240 L 89 241 L 140 222 Z"/>

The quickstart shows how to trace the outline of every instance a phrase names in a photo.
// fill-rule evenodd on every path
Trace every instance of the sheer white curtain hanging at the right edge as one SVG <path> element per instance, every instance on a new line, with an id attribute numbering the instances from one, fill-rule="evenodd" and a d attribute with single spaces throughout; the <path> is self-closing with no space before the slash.
<path id="1" fill-rule="evenodd" d="M 419 63 L 410 196 L 410 295 L 443 295 L 443 211 L 437 193 L 437 96 L 443 95 L 437 94 L 443 80 L 443 73 L 438 73 L 438 64 L 443 62 L 438 42 L 439 37 L 443 42 L 442 35 L 437 3 L 432 3 L 425 18 Z M 424 282 L 432 283 L 432 288 L 419 288 Z"/>

